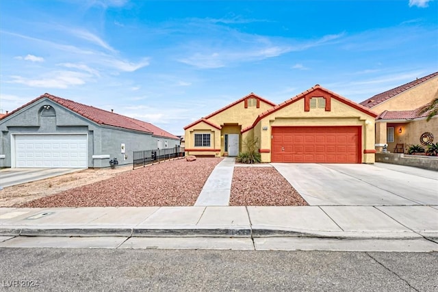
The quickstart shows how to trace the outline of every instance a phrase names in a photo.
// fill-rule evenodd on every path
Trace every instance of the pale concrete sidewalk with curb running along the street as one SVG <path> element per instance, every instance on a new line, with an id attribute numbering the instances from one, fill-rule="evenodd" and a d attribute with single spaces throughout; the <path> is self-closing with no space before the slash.
<path id="1" fill-rule="evenodd" d="M 0 208 L 0 236 L 287 235 L 436 243 L 438 221 L 431 218 L 437 216 L 438 206 Z"/>

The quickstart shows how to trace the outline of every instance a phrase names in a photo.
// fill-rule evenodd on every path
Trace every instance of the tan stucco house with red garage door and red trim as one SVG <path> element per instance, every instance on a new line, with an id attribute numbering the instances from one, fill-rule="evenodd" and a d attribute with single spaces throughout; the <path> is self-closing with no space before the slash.
<path id="1" fill-rule="evenodd" d="M 374 163 L 376 116 L 318 84 L 279 105 L 250 93 L 184 127 L 185 152 L 237 156 L 256 140 L 263 162 Z"/>

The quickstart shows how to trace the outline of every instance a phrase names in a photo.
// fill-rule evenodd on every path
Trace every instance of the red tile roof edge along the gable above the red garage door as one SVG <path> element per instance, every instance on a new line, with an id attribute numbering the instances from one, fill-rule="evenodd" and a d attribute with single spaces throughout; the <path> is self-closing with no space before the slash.
<path id="1" fill-rule="evenodd" d="M 372 116 L 374 118 L 376 118 L 376 116 L 378 116 L 376 113 L 374 113 L 374 111 L 371 111 L 370 109 L 367 109 L 366 107 L 363 107 L 362 105 L 359 105 L 358 103 L 350 101 L 348 98 L 340 96 L 339 94 L 336 94 L 335 92 L 327 90 L 326 88 L 323 88 L 321 85 L 316 84 L 315 86 L 313 86 L 313 88 L 309 88 L 305 92 L 301 92 L 300 94 L 298 94 L 298 95 L 288 99 L 287 101 L 283 101 L 283 103 L 280 103 L 279 105 L 276 105 L 275 107 L 271 107 L 267 111 L 264 111 L 263 113 L 259 114 L 259 116 L 255 119 L 255 121 L 253 122 L 253 124 L 251 126 L 246 127 L 245 129 L 242 129 L 242 133 L 244 133 L 244 132 L 246 132 L 246 131 L 248 131 L 250 129 L 253 129 L 253 127 L 255 127 L 255 125 L 262 118 L 265 118 L 266 116 L 269 116 L 270 114 L 274 113 L 275 111 L 278 111 L 279 109 L 282 109 L 283 107 L 287 107 L 287 105 L 290 105 L 291 103 L 295 103 L 296 101 L 300 100 L 301 98 L 304 98 L 310 92 L 313 92 L 313 91 L 318 90 L 318 89 L 319 90 L 323 90 L 323 91 L 329 93 L 337 101 L 345 103 L 346 105 L 349 105 L 350 107 L 354 107 L 355 109 L 358 109 L 359 111 L 362 111 L 365 114 L 368 114 L 368 115 L 370 115 L 370 116 Z"/>

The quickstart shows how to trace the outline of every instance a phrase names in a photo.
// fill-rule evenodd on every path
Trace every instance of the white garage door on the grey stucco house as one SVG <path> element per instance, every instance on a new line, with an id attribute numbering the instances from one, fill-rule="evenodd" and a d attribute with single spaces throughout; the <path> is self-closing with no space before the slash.
<path id="1" fill-rule="evenodd" d="M 15 135 L 16 168 L 87 168 L 87 135 Z"/>

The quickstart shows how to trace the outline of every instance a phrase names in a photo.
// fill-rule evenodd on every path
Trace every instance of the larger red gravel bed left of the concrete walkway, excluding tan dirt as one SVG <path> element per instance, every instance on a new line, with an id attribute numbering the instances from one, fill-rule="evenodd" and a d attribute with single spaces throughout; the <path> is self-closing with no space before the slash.
<path id="1" fill-rule="evenodd" d="M 220 161 L 221 158 L 166 161 L 15 207 L 193 206 Z"/>

